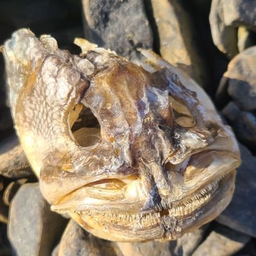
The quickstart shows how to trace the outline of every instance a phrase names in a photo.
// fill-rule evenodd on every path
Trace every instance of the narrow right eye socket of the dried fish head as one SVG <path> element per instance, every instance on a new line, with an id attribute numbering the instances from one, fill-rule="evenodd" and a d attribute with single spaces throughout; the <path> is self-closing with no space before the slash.
<path id="1" fill-rule="evenodd" d="M 189 109 L 177 102 L 172 96 L 169 96 L 169 100 L 172 105 L 175 122 L 182 127 L 194 127 L 195 120 Z"/>

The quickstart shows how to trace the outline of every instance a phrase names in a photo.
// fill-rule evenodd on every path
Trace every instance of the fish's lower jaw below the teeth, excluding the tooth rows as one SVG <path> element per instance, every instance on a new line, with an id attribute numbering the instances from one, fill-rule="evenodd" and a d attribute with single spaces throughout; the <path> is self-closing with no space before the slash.
<path id="1" fill-rule="evenodd" d="M 93 235 L 110 241 L 175 240 L 186 232 L 193 232 L 196 228 L 213 220 L 227 207 L 234 192 L 235 177 L 236 171 L 225 175 L 220 180 L 218 189 L 212 193 L 209 200 L 194 211 L 179 215 L 165 210 L 166 214 L 164 212 L 155 214 L 156 218 L 152 220 L 152 225 L 143 225 L 140 220 L 135 219 L 133 222 L 130 221 L 129 225 L 125 225 L 122 221 L 116 221 L 115 219 L 113 221 L 110 215 L 100 213 L 70 213 L 70 216 Z M 120 216 L 116 216 L 116 218 L 120 218 Z"/>

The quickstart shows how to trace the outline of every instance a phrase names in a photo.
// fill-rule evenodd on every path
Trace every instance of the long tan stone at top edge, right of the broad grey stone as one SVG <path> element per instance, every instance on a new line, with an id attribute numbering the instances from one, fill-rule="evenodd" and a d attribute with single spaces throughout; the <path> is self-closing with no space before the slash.
<path id="1" fill-rule="evenodd" d="M 181 68 L 201 86 L 207 85 L 204 61 L 193 37 L 192 21 L 179 0 L 151 0 L 164 60 Z"/>

